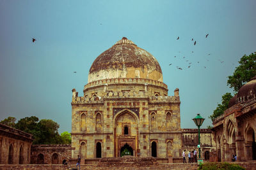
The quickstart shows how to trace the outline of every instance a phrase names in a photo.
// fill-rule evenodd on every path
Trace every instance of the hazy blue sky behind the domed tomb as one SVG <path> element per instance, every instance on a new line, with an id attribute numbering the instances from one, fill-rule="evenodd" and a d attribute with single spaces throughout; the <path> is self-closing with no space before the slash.
<path id="1" fill-rule="evenodd" d="M 254 0 L 1 0 L 0 120 L 49 118 L 71 132 L 72 89 L 83 96 L 93 60 L 125 36 L 156 57 L 169 96 L 180 89 L 181 127 L 196 128 L 191 119 L 201 113 L 205 128 L 232 92 L 227 76 L 256 51 L 255 7 Z"/>

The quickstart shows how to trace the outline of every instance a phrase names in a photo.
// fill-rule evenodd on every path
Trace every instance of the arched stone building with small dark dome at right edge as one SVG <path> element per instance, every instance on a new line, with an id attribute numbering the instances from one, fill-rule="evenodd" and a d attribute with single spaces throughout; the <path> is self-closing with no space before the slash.
<path id="1" fill-rule="evenodd" d="M 213 121 L 218 161 L 256 160 L 256 76 L 230 99 L 229 108 Z"/>

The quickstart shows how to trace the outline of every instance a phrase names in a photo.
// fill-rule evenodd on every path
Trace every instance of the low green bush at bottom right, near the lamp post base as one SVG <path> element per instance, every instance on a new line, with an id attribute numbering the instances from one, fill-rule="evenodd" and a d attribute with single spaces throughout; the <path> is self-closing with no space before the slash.
<path id="1" fill-rule="evenodd" d="M 220 163 L 204 163 L 200 164 L 198 169 L 202 170 L 245 170 L 244 167 L 241 167 L 237 164 L 231 164 L 228 162 L 220 162 Z"/>

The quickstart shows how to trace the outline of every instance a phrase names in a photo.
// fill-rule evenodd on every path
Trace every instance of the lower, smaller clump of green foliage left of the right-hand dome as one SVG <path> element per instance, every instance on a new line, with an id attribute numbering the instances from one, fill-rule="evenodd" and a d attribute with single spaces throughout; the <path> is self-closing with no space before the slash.
<path id="1" fill-rule="evenodd" d="M 226 93 L 222 96 L 221 104 L 218 104 L 217 108 L 213 111 L 213 114 L 209 117 L 213 121 L 214 118 L 222 115 L 225 110 L 228 109 L 228 103 L 233 96 L 230 93 Z"/>

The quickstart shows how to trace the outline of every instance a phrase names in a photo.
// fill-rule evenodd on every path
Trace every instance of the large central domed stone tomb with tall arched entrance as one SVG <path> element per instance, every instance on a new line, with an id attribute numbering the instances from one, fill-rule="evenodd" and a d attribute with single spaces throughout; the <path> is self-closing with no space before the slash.
<path id="1" fill-rule="evenodd" d="M 90 67 L 83 96 L 72 90 L 72 158 L 179 159 L 179 89 L 168 96 L 156 58 L 122 38 Z"/>

